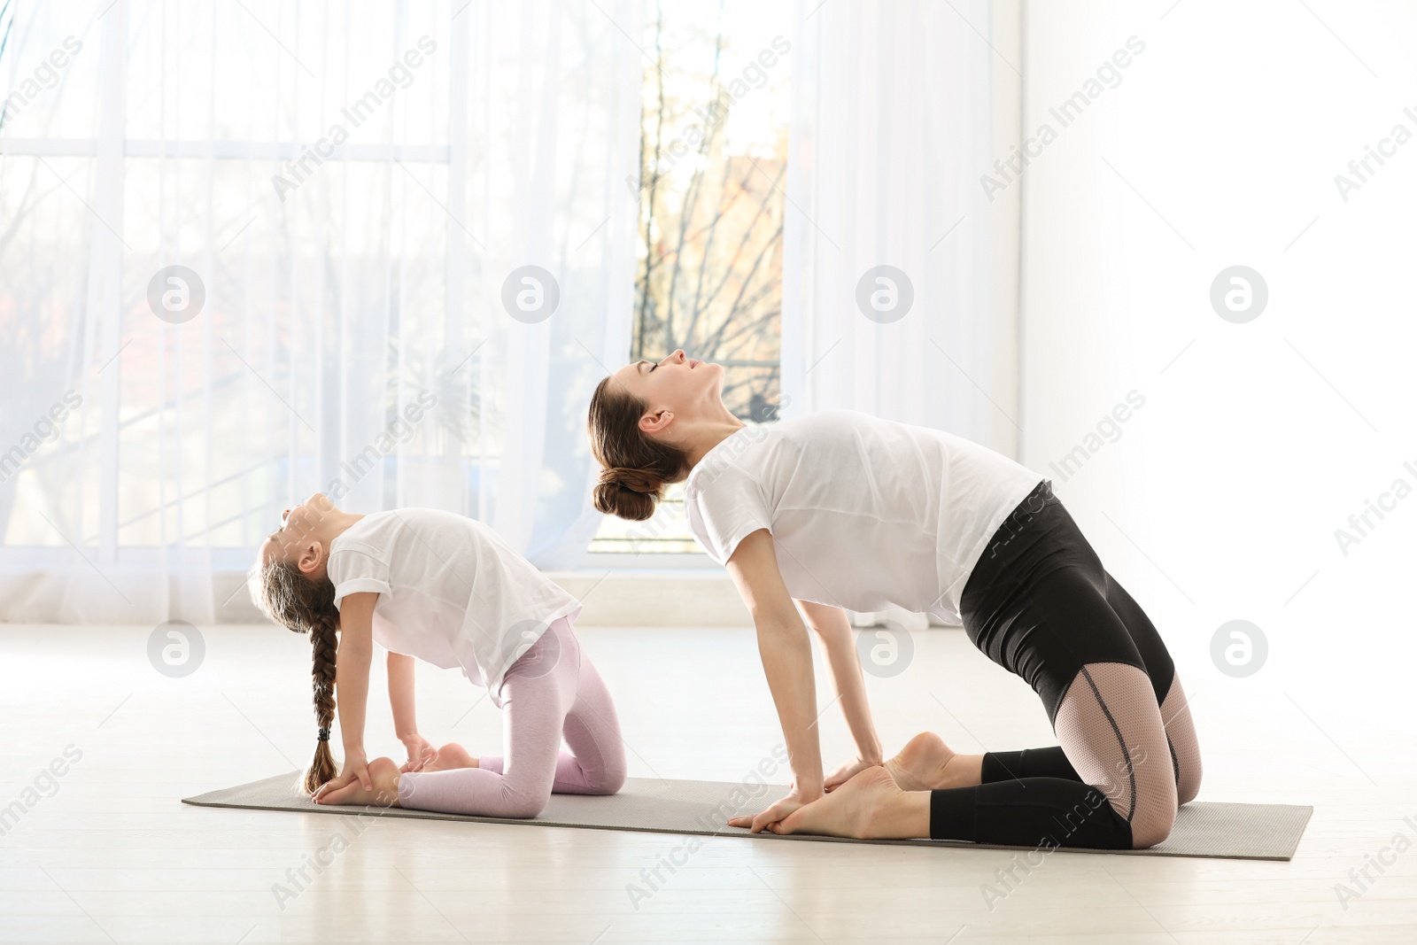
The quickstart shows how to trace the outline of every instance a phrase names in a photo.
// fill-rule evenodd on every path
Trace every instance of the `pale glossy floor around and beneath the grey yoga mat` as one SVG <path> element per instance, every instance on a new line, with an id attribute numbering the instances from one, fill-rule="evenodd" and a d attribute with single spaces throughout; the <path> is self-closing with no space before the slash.
<path id="1" fill-rule="evenodd" d="M 1006 890 L 995 871 L 1012 851 L 181 805 L 306 761 L 307 647 L 269 626 L 208 629 L 198 669 L 173 679 L 149 662 L 150 633 L 0 626 L 0 941 L 1417 942 L 1411 738 L 1321 731 L 1219 674 L 1183 676 L 1199 799 L 1312 803 L 1295 859 L 1051 853 L 990 907 L 983 888 Z M 631 775 L 737 781 L 779 742 L 751 630 L 580 635 L 615 694 Z M 961 751 L 1053 744 L 1033 693 L 962 632 L 915 645 L 903 674 L 869 680 L 887 749 L 922 728 Z M 419 670 L 422 732 L 496 752 L 482 690 Z M 381 680 L 371 691 L 368 752 L 393 754 Z M 818 696 L 830 698 L 823 683 Z M 829 765 L 845 761 L 840 714 L 823 725 Z M 41 774 L 51 762 L 61 776 Z M 1370 857 L 1399 833 L 1379 874 Z M 1360 891 L 1348 874 L 1365 866 Z M 1339 883 L 1360 895 L 1342 902 Z"/>

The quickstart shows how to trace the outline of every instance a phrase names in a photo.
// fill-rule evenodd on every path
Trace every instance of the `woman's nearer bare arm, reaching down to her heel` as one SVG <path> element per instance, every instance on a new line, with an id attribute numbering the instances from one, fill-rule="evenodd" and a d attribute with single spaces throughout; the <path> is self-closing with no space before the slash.
<path id="1" fill-rule="evenodd" d="M 734 817 L 728 822 L 748 826 L 747 822 L 751 820 L 752 832 L 758 833 L 822 796 L 822 747 L 816 734 L 812 642 L 802 615 L 782 582 L 772 534 L 767 528 L 758 528 L 738 543 L 728 558 L 728 575 L 738 587 L 758 630 L 758 653 L 778 708 L 794 776 L 792 793 L 786 798 L 755 817 Z"/>

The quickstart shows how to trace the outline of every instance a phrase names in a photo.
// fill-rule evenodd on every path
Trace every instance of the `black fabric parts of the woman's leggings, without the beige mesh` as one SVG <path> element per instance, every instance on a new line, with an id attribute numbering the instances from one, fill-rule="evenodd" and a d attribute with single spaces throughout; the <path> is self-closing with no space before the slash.
<path id="1" fill-rule="evenodd" d="M 1085 664 L 1122 663 L 1142 670 L 1151 680 L 1158 707 L 1170 689 L 1175 664 L 1156 628 L 1102 568 L 1049 480 L 1039 483 L 995 533 L 965 584 L 959 611 L 975 646 L 1027 680 L 1043 700 L 1054 728 L 1058 707 Z M 1083 679 L 1093 691 L 1083 691 L 1077 698 L 1095 696 L 1111 728 L 1117 730 L 1104 693 L 1088 673 Z M 1144 721 L 1155 728 L 1151 720 Z M 1121 742 L 1121 731 L 1117 742 Z M 1170 747 L 1169 738 L 1165 744 Z M 1179 783 L 1173 747 L 1165 761 L 1168 776 L 1175 774 Z M 1129 766 L 1129 761 L 1124 764 Z M 1061 745 L 988 752 L 981 781 L 976 786 L 931 792 L 932 839 L 1107 850 L 1134 847 L 1129 810 L 1136 808 L 1135 775 L 1131 808 L 1118 805 L 1121 810 L 1098 788 L 1083 781 Z M 1151 802 L 1155 805 L 1156 798 Z M 1173 810 L 1175 796 L 1165 803 Z M 1165 829 L 1169 830 L 1169 822 Z"/>

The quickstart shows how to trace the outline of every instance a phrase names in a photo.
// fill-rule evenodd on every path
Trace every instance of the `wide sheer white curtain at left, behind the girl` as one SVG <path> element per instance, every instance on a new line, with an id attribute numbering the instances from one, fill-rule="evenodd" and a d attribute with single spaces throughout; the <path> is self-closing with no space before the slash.
<path id="1" fill-rule="evenodd" d="M 639 0 L 89 6 L 21 4 L 3 64 L 0 619 L 247 612 L 315 490 L 574 564 Z"/>

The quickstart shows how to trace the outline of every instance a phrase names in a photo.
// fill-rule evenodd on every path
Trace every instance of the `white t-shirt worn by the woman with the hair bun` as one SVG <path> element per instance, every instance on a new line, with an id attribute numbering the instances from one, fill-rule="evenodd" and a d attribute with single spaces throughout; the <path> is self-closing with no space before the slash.
<path id="1" fill-rule="evenodd" d="M 689 528 L 718 564 L 772 533 L 794 598 L 959 623 L 989 538 L 1043 482 L 962 436 L 846 409 L 744 426 L 689 473 Z"/>

